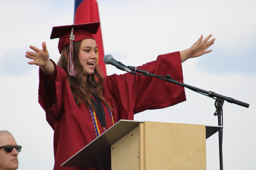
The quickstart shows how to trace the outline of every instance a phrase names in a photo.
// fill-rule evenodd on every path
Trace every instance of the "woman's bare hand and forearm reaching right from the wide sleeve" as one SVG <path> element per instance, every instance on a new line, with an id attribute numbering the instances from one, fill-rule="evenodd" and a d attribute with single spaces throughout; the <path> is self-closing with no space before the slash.
<path id="1" fill-rule="evenodd" d="M 181 51 L 181 62 L 184 62 L 189 58 L 199 57 L 203 54 L 210 53 L 212 50 L 206 49 L 213 45 L 215 41 L 215 38 L 208 41 L 211 36 L 212 35 L 209 35 L 208 37 L 206 37 L 206 39 L 203 40 L 203 35 L 201 35 L 197 42 L 195 42 L 189 49 Z"/>

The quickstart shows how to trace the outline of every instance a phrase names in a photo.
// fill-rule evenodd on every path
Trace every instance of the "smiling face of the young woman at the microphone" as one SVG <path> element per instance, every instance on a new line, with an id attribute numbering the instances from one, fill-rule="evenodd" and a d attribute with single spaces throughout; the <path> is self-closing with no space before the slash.
<path id="1" fill-rule="evenodd" d="M 94 73 L 94 68 L 98 60 L 98 48 L 94 39 L 82 40 L 80 50 L 78 52 L 78 60 L 83 66 L 83 76 Z"/>

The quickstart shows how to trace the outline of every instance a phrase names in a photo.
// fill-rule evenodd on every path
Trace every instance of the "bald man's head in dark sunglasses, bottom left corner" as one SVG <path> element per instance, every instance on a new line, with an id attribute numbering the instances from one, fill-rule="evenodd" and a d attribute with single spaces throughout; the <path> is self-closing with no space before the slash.
<path id="1" fill-rule="evenodd" d="M 18 169 L 18 152 L 21 146 L 17 145 L 13 135 L 7 131 L 0 131 L 0 170 Z"/>

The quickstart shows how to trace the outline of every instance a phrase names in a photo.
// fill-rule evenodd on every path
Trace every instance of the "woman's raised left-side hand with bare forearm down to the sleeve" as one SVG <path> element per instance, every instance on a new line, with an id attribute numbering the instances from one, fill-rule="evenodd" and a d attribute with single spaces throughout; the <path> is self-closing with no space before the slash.
<path id="1" fill-rule="evenodd" d="M 42 50 L 30 45 L 29 48 L 31 48 L 32 50 L 34 50 L 35 52 L 30 52 L 27 51 L 25 57 L 34 60 L 34 61 L 29 61 L 28 64 L 31 65 L 37 65 L 40 66 L 43 73 L 46 75 L 46 77 L 48 79 L 52 79 L 55 77 L 55 73 L 56 73 L 56 68 L 53 64 L 53 62 L 51 62 L 49 60 L 49 53 L 48 50 L 46 48 L 46 43 L 43 42 L 42 44 Z"/>

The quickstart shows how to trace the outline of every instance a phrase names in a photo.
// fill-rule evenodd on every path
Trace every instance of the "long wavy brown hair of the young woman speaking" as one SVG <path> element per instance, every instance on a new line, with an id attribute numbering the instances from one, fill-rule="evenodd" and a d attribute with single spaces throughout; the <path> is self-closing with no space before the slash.
<path id="1" fill-rule="evenodd" d="M 77 105 L 80 105 L 81 102 L 83 102 L 86 107 L 91 106 L 91 108 L 95 111 L 95 108 L 90 100 L 91 93 L 94 93 L 107 105 L 110 110 L 113 110 L 112 107 L 107 103 L 107 101 L 103 99 L 102 92 L 104 79 L 101 71 L 99 71 L 98 69 L 98 65 L 96 64 L 93 74 L 87 75 L 86 82 L 82 79 L 83 66 L 78 60 L 78 52 L 80 50 L 81 42 L 82 41 L 77 41 L 73 43 L 73 63 L 77 75 L 76 77 L 67 75 L 67 81 L 69 82 L 69 86 L 74 96 L 74 99 Z M 64 69 L 67 73 L 68 58 L 66 58 L 64 55 L 66 50 L 69 51 L 69 45 L 62 49 L 61 57 L 57 65 Z"/>

